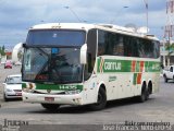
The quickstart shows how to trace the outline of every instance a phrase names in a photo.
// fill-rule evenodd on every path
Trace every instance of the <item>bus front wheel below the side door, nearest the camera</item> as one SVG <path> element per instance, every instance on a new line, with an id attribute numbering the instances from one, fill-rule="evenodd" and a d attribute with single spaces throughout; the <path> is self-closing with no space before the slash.
<path id="1" fill-rule="evenodd" d="M 107 94 L 103 87 L 100 87 L 98 93 L 98 100 L 96 104 L 90 105 L 92 110 L 103 109 L 107 105 Z"/>

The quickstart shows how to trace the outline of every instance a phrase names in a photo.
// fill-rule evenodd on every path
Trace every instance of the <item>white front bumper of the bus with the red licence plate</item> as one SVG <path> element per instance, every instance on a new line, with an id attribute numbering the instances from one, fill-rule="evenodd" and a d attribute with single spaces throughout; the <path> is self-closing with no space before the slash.
<path id="1" fill-rule="evenodd" d="M 73 95 L 49 95 L 33 94 L 23 92 L 23 102 L 42 103 L 42 104 L 60 104 L 60 105 L 83 105 L 82 94 Z"/>

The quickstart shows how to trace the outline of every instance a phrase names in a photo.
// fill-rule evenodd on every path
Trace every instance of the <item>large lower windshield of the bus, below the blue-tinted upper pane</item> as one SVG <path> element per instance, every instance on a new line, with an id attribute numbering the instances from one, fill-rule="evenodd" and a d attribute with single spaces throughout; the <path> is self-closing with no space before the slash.
<path id="1" fill-rule="evenodd" d="M 79 48 L 26 48 L 23 80 L 30 82 L 82 82 Z"/>

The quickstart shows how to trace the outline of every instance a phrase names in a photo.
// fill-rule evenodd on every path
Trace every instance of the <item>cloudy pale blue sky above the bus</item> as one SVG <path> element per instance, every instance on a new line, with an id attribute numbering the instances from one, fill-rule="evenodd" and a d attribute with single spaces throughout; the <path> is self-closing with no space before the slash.
<path id="1" fill-rule="evenodd" d="M 30 26 L 42 23 L 105 23 L 147 26 L 160 39 L 166 24 L 166 0 L 0 0 L 0 46 L 24 43 Z M 65 8 L 69 7 L 69 8 Z"/>

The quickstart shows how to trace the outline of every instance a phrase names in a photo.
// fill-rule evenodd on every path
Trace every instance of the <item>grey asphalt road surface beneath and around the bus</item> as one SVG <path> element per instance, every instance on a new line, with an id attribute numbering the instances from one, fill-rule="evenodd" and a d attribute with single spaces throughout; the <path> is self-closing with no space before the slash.
<path id="1" fill-rule="evenodd" d="M 3 82 L 9 73 L 20 73 L 20 67 L 15 67 L 13 70 L 2 70 L 1 67 L 0 71 L 0 82 Z M 163 79 L 160 81 L 160 92 L 151 95 L 146 103 L 136 103 L 130 98 L 114 100 L 109 102 L 107 108 L 100 111 L 91 111 L 87 106 L 63 106 L 57 112 L 49 112 L 39 104 L 26 104 L 22 100 L 5 103 L 2 99 L 1 90 L 0 96 L 0 126 L 3 126 L 7 120 L 27 121 L 28 124 L 45 126 L 45 129 L 52 124 L 85 124 L 88 127 L 99 124 L 103 130 L 103 124 L 119 124 L 126 121 L 167 122 L 174 124 L 174 82 L 164 83 Z M 67 126 L 67 128 L 73 130 L 71 126 Z M 82 128 L 88 130 L 87 127 Z M 95 130 L 95 127 L 90 128 Z M 50 130 L 51 127 L 48 129 Z M 52 129 L 51 131 L 54 130 Z"/>

